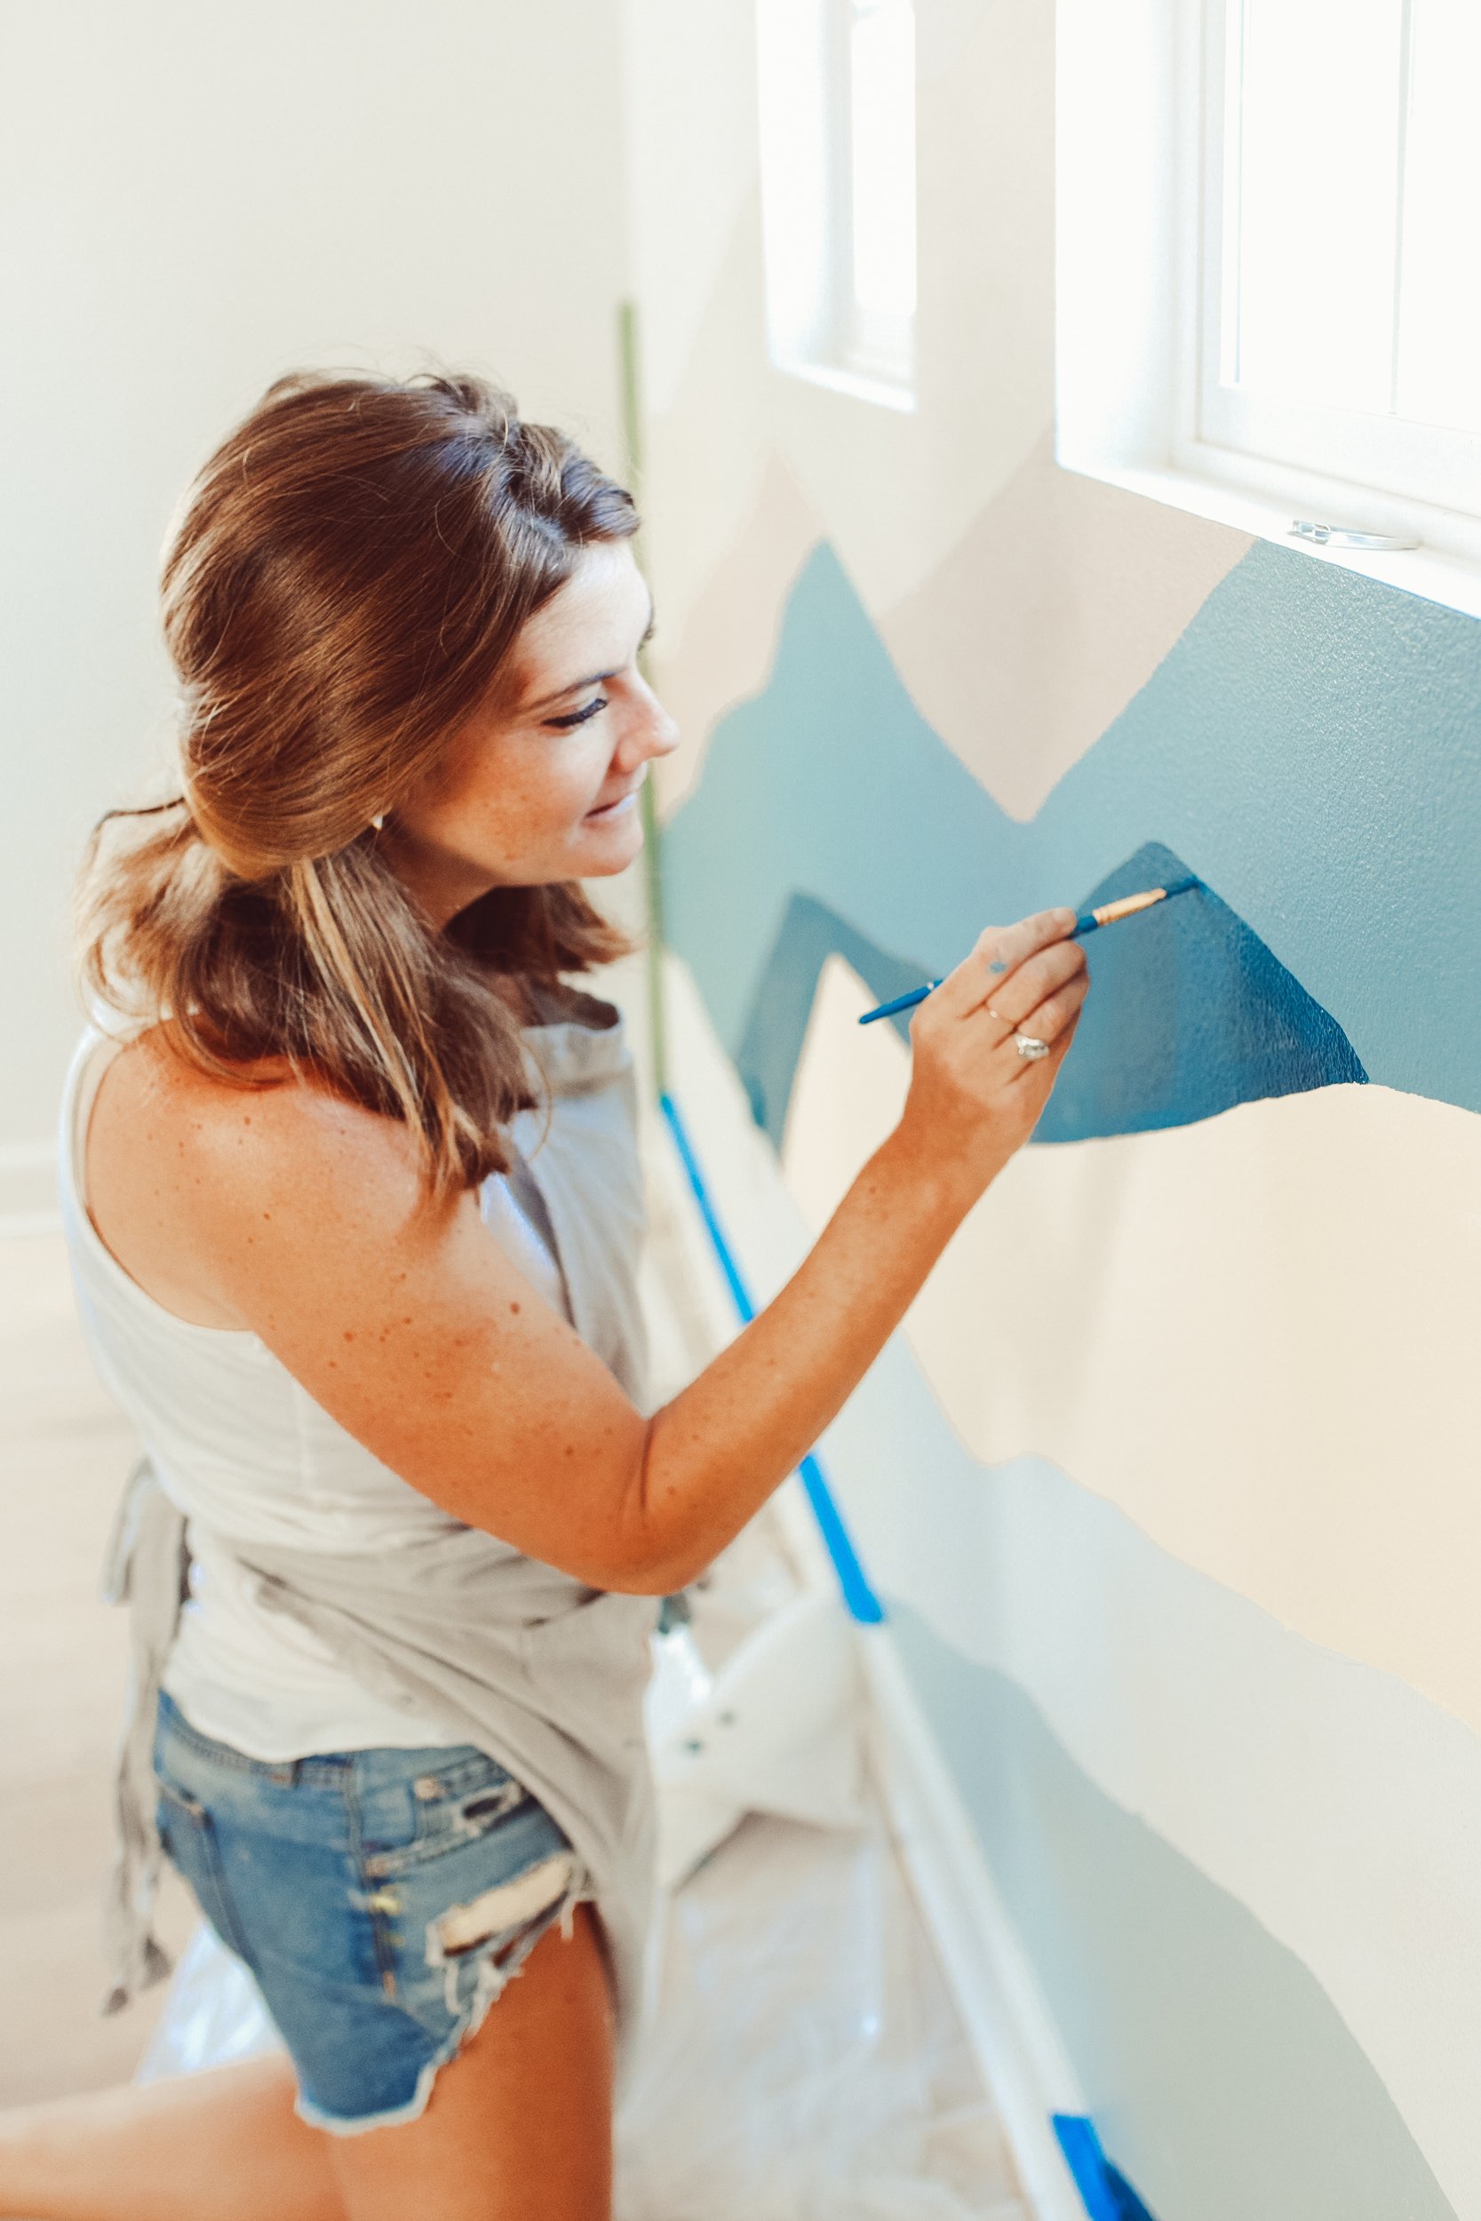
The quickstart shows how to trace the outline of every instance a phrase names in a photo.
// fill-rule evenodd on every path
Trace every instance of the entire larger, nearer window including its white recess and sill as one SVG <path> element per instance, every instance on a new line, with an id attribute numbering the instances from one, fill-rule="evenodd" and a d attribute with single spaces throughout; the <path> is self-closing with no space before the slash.
<path id="1" fill-rule="evenodd" d="M 1481 606 L 1479 91 L 1481 0 L 1059 0 L 1061 462 Z"/>

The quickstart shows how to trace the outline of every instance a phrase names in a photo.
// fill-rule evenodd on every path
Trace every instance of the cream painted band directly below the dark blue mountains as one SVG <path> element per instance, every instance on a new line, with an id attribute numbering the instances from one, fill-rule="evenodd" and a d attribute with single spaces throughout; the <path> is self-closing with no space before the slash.
<path id="1" fill-rule="evenodd" d="M 784 1137 L 819 1228 L 908 1048 L 824 966 Z M 1163 1550 L 1481 1728 L 1481 1119 L 1377 1086 L 1021 1150 L 906 1333 L 984 1464 L 1039 1453 Z"/>

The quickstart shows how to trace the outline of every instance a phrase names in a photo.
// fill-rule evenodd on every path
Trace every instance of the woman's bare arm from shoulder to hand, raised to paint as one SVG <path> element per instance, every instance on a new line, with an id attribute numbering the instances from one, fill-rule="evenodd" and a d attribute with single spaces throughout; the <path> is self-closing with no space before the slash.
<path id="1" fill-rule="evenodd" d="M 806 1455 L 1028 1137 L 1084 997 L 1070 922 L 986 933 L 919 1004 L 899 1126 L 779 1295 L 648 1419 L 488 1237 L 475 1197 L 431 1210 L 404 1130 L 311 1088 L 155 1077 L 89 1139 L 93 1210 L 122 1193 L 111 1153 L 127 1130 L 171 1170 L 158 1226 L 211 1319 L 258 1333 L 455 1517 L 597 1588 L 657 1595 L 708 1566 Z M 1052 1055 L 1024 1062 L 1015 1022 Z M 149 1228 L 142 1248 L 122 1217 L 100 1230 L 138 1270 Z"/>

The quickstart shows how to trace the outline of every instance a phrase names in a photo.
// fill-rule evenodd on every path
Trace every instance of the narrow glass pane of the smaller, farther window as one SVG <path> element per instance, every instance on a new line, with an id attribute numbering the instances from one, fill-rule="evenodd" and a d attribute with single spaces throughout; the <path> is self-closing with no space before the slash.
<path id="1" fill-rule="evenodd" d="M 877 315 L 915 313 L 915 9 L 853 0 L 853 293 Z"/>

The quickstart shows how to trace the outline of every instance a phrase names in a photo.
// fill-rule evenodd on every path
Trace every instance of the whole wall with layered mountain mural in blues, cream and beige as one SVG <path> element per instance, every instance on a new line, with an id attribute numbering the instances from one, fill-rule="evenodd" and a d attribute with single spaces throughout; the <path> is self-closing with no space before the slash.
<path id="1" fill-rule="evenodd" d="M 919 0 L 915 415 L 773 373 L 744 16 L 637 4 L 675 1095 L 764 1299 L 864 1008 L 1203 882 L 822 1455 L 1157 2221 L 1481 2221 L 1481 626 L 1055 466 L 1044 0 Z"/>

